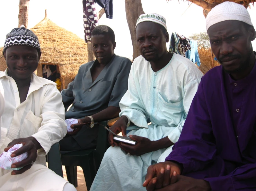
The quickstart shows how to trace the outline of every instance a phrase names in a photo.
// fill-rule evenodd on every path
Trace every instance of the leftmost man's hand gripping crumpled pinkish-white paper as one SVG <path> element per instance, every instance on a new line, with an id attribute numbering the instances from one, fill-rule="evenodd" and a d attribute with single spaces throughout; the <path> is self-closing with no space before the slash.
<path id="1" fill-rule="evenodd" d="M 37 158 L 37 149 L 41 147 L 39 142 L 34 137 L 28 137 L 28 138 L 20 138 L 20 139 L 14 139 L 11 141 L 7 148 L 4 149 L 4 151 L 8 151 L 10 148 L 12 148 L 15 144 L 23 144 L 23 147 L 17 149 L 11 154 L 11 157 L 17 157 L 18 155 L 21 155 L 25 152 L 28 153 L 28 157 L 20 162 L 15 162 L 11 165 L 11 168 L 21 168 L 20 170 L 13 170 L 11 171 L 12 175 L 15 174 L 22 174 L 23 172 L 27 171 L 32 167 L 32 162 L 36 161 Z M 41 147 L 42 148 L 42 147 Z"/>

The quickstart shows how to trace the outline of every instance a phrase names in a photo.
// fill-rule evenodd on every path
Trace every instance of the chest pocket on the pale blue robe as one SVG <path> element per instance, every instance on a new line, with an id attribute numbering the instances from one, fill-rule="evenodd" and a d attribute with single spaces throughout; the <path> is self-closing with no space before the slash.
<path id="1" fill-rule="evenodd" d="M 160 93 L 158 93 L 158 114 L 162 119 L 167 120 L 167 123 L 171 126 L 177 126 L 183 117 L 184 107 L 183 100 L 175 103 L 166 102 Z"/>

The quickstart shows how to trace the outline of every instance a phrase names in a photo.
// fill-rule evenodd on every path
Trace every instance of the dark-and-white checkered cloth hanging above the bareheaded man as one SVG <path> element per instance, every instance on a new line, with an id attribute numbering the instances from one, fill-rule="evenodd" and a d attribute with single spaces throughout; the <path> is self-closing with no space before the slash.
<path id="1" fill-rule="evenodd" d="M 85 42 L 91 42 L 91 31 L 99 25 L 94 0 L 83 0 Z"/>

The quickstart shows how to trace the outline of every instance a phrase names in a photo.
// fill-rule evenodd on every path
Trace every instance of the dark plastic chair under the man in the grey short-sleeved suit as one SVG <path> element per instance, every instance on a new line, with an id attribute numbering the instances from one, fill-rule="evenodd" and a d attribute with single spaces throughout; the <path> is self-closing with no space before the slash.
<path id="1" fill-rule="evenodd" d="M 110 146 L 107 141 L 108 131 L 103 126 L 108 127 L 109 124 L 115 122 L 118 118 L 98 122 L 101 125 L 99 125 L 96 149 L 61 154 L 61 163 L 65 165 L 68 181 L 75 187 L 77 187 L 77 166 L 79 166 L 83 169 L 87 190 L 90 190 L 104 153 Z"/>

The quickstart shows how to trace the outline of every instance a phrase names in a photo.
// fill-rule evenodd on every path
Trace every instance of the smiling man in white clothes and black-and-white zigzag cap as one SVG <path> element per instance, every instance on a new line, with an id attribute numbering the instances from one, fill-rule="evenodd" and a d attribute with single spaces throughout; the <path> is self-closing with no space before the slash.
<path id="1" fill-rule="evenodd" d="M 13 29 L 7 34 L 3 55 L 8 68 L 0 72 L 0 92 L 5 103 L 0 103 L 0 107 L 5 105 L 1 117 L 0 154 L 22 143 L 23 147 L 11 157 L 25 152 L 28 157 L 11 165 L 12 169 L 20 170 L 0 168 L 0 190 L 76 190 L 46 167 L 45 155 L 65 136 L 67 126 L 56 84 L 33 73 L 41 56 L 37 37 L 24 26 Z"/>

